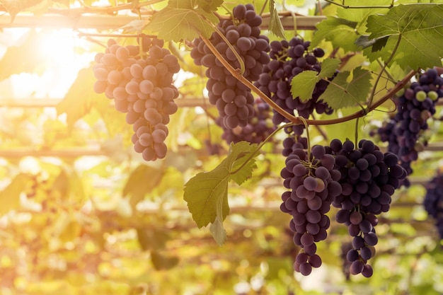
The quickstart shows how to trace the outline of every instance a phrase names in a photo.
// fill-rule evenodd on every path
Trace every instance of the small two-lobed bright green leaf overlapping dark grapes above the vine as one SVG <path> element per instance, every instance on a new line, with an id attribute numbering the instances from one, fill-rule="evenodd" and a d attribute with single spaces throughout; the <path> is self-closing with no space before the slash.
<path id="1" fill-rule="evenodd" d="M 339 59 L 325 59 L 321 63 L 321 70 L 317 71 L 302 71 L 291 81 L 292 98 L 299 98 L 302 102 L 312 98 L 313 89 L 316 83 L 321 79 L 327 79 L 333 76 L 340 65 Z"/>

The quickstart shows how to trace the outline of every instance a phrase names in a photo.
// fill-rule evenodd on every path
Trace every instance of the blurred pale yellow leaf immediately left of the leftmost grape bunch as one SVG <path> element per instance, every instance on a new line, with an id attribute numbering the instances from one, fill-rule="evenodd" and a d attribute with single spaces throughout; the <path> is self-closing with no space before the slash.
<path id="1" fill-rule="evenodd" d="M 69 129 L 77 120 L 91 112 L 94 106 L 107 108 L 110 104 L 110 100 L 103 94 L 93 91 L 94 81 L 96 78 L 93 76 L 92 67 L 81 69 L 66 96 L 57 104 L 57 115 L 66 112 Z"/>

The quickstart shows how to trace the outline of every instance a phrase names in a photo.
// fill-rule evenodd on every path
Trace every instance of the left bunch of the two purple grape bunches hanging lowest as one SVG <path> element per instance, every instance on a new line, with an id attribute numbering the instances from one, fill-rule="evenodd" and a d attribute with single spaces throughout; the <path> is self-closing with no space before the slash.
<path id="1" fill-rule="evenodd" d="M 330 219 L 326 213 L 342 192 L 340 171 L 334 167 L 334 156 L 326 154 L 324 146 L 316 145 L 309 155 L 304 149 L 294 149 L 281 171 L 283 185 L 289 190 L 282 194 L 280 209 L 292 215 L 289 228 L 294 232 L 294 243 L 301 247 L 294 270 L 303 275 L 321 266 L 316 242 L 328 236 Z"/>

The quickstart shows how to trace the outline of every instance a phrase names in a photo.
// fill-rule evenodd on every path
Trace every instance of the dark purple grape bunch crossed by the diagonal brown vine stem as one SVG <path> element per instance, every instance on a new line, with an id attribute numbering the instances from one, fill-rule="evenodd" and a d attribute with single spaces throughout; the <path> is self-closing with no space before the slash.
<path id="1" fill-rule="evenodd" d="M 217 32 L 212 33 L 209 41 L 226 61 L 235 69 L 240 69 L 234 49 L 245 65 L 243 76 L 249 81 L 255 81 L 263 72 L 263 64 L 270 60 L 267 55 L 270 50 L 269 39 L 260 35 L 262 18 L 255 13 L 252 4 L 235 6 L 233 15 L 233 19 L 223 20 L 217 25 L 231 47 Z M 245 127 L 254 115 L 251 89 L 229 73 L 201 38 L 195 39 L 192 46 L 190 55 L 195 64 L 208 68 L 206 88 L 209 102 L 217 106 L 222 124 L 227 129 Z"/>

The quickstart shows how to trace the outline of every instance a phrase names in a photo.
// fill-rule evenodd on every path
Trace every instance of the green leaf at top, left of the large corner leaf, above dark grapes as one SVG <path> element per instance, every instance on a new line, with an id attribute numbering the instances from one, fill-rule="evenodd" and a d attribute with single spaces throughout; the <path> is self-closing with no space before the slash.
<path id="1" fill-rule="evenodd" d="M 330 41 L 333 47 L 341 47 L 345 52 L 356 51 L 355 40 L 358 35 L 355 31 L 357 22 L 348 21 L 344 18 L 328 16 L 324 21 L 316 25 L 316 33 L 313 34 L 311 47 L 316 47 L 321 41 Z"/>

